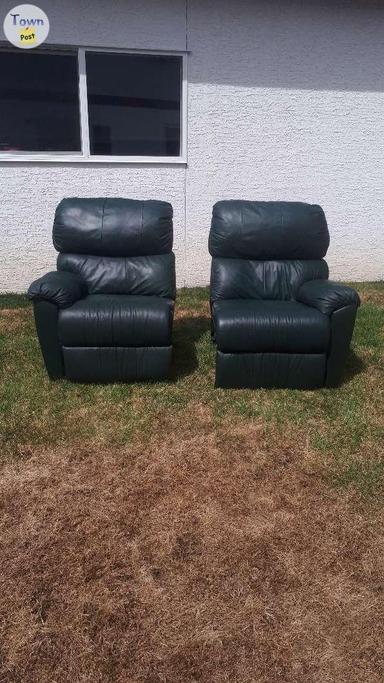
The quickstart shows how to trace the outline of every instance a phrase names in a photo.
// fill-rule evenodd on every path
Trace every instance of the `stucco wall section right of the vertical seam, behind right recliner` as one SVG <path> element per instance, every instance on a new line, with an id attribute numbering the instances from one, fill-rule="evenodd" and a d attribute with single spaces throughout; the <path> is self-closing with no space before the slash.
<path id="1" fill-rule="evenodd" d="M 188 46 L 193 281 L 230 198 L 321 204 L 331 276 L 384 278 L 384 4 L 190 0 Z"/>

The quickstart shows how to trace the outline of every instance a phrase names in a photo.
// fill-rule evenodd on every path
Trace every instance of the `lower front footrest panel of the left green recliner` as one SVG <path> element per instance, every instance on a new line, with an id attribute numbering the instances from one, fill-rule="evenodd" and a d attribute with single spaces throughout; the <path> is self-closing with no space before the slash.
<path id="1" fill-rule="evenodd" d="M 172 346 L 63 346 L 65 376 L 72 382 L 132 382 L 168 377 Z"/>

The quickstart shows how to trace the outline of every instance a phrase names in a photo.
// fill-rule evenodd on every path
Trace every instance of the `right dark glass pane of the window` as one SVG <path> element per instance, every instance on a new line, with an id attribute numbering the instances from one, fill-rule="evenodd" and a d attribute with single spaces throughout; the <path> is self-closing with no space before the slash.
<path id="1" fill-rule="evenodd" d="M 181 61 L 86 53 L 91 154 L 179 156 Z"/>

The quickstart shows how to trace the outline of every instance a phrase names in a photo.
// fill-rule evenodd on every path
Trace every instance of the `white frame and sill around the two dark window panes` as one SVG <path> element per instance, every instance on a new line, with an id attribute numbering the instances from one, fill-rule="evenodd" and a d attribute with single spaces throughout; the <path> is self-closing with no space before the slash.
<path id="1" fill-rule="evenodd" d="M 7 48 L 6 45 L 2 45 Z M 44 46 L 44 51 L 55 52 L 61 46 Z M 80 164 L 186 164 L 187 163 L 187 53 L 168 52 L 165 50 L 129 50 L 100 47 L 70 47 L 65 46 L 65 51 L 77 54 L 78 77 L 79 77 L 79 105 L 80 105 L 80 152 L 26 152 L 26 151 L 0 151 L 0 163 L 9 162 L 48 162 L 48 163 L 80 163 Z M 87 97 L 87 73 L 85 64 L 86 52 L 106 52 L 121 54 L 149 54 L 170 55 L 181 57 L 182 83 L 181 83 L 181 107 L 180 107 L 180 155 L 172 156 L 118 156 L 90 153 L 89 128 L 88 128 L 88 97 Z"/>

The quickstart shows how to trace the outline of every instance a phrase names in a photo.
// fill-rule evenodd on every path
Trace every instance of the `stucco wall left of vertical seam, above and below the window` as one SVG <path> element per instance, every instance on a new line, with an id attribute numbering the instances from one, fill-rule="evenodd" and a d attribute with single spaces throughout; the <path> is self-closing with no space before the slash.
<path id="1" fill-rule="evenodd" d="M 50 43 L 185 50 L 184 0 L 39 0 L 37 4 L 50 20 Z M 10 6 L 0 0 L 0 18 Z M 52 221 L 65 196 L 170 201 L 178 281 L 184 282 L 183 166 L 3 163 L 0 177 L 0 291 L 24 291 L 32 279 L 55 267 Z"/>

